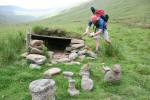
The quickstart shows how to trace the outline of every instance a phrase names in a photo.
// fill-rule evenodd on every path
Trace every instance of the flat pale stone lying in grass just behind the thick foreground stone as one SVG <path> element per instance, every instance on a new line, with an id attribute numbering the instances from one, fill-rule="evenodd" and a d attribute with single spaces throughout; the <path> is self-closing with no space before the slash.
<path id="1" fill-rule="evenodd" d="M 44 72 L 45 77 L 52 77 L 53 75 L 59 74 L 61 72 L 60 68 L 50 68 Z"/>

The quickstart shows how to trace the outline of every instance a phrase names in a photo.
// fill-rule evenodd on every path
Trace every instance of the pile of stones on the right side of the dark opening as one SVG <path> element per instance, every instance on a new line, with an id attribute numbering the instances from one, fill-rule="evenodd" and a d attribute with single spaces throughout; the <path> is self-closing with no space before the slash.
<path id="1" fill-rule="evenodd" d="M 75 64 L 79 64 L 77 62 L 73 62 L 78 57 L 80 57 L 81 59 L 85 58 L 85 55 L 92 58 L 97 57 L 97 55 L 92 52 L 92 50 L 89 50 L 84 41 L 80 39 L 71 39 L 71 44 L 69 47 L 66 47 L 66 52 L 68 52 L 69 55 L 57 60 L 57 62 L 72 62 Z"/>

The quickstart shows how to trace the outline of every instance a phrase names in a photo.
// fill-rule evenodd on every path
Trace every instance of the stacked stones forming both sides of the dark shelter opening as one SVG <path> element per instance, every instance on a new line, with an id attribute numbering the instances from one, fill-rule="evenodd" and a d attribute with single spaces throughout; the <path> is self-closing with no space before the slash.
<path id="1" fill-rule="evenodd" d="M 47 57 L 44 54 L 44 42 L 42 40 L 30 40 L 28 45 L 28 52 L 23 54 L 26 59 L 31 62 L 30 68 L 32 69 L 40 69 L 41 64 L 43 64 L 47 59 L 49 63 L 57 64 L 57 63 L 66 63 L 66 64 L 80 64 L 80 62 L 75 62 L 76 58 L 84 59 L 85 55 L 96 58 L 97 55 L 89 50 L 83 40 L 80 39 L 71 39 L 71 44 L 69 47 L 66 47 L 66 54 L 64 57 L 59 59 L 54 58 L 53 51 L 47 51 Z"/>

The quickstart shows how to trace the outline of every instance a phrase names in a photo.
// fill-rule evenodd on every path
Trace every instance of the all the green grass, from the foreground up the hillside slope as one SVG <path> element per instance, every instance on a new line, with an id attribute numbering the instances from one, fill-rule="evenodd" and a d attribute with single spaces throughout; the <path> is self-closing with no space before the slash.
<path id="1" fill-rule="evenodd" d="M 92 0 L 88 4 L 64 11 L 57 17 L 30 23 L 30 27 L 29 24 L 0 25 L 0 100 L 31 100 L 30 82 L 43 78 L 44 71 L 53 67 L 45 64 L 41 70 L 31 70 L 26 60 L 20 57 L 25 52 L 24 38 L 28 29 L 34 26 L 61 28 L 82 36 L 87 21 L 90 20 L 91 5 L 105 9 L 110 15 L 112 46 L 101 39 L 101 52 L 96 60 L 86 58 L 81 61 L 81 65 L 53 65 L 62 71 L 74 72 L 76 87 L 80 90 L 79 97 L 70 97 L 67 93 L 68 82 L 61 73 L 53 77 L 57 86 L 56 99 L 150 100 L 150 30 L 145 27 L 150 23 L 150 0 Z M 94 39 L 85 36 L 82 38 L 95 50 Z M 79 71 L 86 63 L 91 63 L 92 67 L 94 89 L 91 92 L 82 91 L 80 86 Z M 108 66 L 121 64 L 120 83 L 104 82 L 102 63 Z"/>

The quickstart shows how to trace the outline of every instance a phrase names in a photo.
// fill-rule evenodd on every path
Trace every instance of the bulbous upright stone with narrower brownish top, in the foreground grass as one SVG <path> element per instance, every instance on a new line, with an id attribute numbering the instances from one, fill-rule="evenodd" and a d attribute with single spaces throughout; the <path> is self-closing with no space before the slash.
<path id="1" fill-rule="evenodd" d="M 85 64 L 81 70 L 80 75 L 82 76 L 81 88 L 84 91 L 91 91 L 94 87 L 94 82 L 90 78 L 90 64 Z"/>

